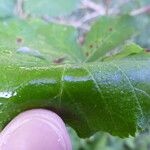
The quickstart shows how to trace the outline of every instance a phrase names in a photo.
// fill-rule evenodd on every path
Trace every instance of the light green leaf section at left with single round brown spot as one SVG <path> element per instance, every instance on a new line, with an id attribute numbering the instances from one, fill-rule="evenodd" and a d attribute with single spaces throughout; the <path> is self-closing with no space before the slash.
<path id="1" fill-rule="evenodd" d="M 78 62 L 83 56 L 76 38 L 76 29 L 69 26 L 47 24 L 40 20 L 0 22 L 0 53 L 4 55 L 0 61 L 17 63 L 26 57 L 34 64 L 43 61 Z"/>

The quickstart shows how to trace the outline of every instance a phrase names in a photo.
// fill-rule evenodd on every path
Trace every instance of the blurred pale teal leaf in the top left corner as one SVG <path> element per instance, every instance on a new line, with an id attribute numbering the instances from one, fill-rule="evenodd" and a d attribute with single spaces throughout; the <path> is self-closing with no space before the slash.
<path id="1" fill-rule="evenodd" d="M 14 0 L 1 0 L 0 1 L 0 18 L 10 17 L 14 13 L 15 1 Z"/>

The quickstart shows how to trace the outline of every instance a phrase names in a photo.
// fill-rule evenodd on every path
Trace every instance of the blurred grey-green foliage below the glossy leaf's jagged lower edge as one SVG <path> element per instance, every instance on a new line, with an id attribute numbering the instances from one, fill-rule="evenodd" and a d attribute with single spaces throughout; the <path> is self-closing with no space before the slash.
<path id="1" fill-rule="evenodd" d="M 121 139 L 108 133 L 98 132 L 88 139 L 80 139 L 75 131 L 68 129 L 71 133 L 74 150 L 149 150 L 150 130 Z"/>

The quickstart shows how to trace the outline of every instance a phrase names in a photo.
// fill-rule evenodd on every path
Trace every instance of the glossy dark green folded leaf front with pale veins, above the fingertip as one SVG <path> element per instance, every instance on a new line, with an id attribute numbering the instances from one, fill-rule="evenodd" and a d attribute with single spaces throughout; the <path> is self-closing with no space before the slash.
<path id="1" fill-rule="evenodd" d="M 81 137 L 134 135 L 150 116 L 150 61 L 0 66 L 0 127 L 18 113 L 47 108 Z"/>

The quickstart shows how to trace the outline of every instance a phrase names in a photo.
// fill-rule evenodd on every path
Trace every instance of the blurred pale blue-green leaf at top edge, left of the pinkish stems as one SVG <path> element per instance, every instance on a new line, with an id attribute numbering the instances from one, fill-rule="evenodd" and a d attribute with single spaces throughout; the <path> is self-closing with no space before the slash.
<path id="1" fill-rule="evenodd" d="M 79 4 L 80 0 L 25 0 L 24 9 L 30 15 L 63 16 L 71 13 Z"/>

